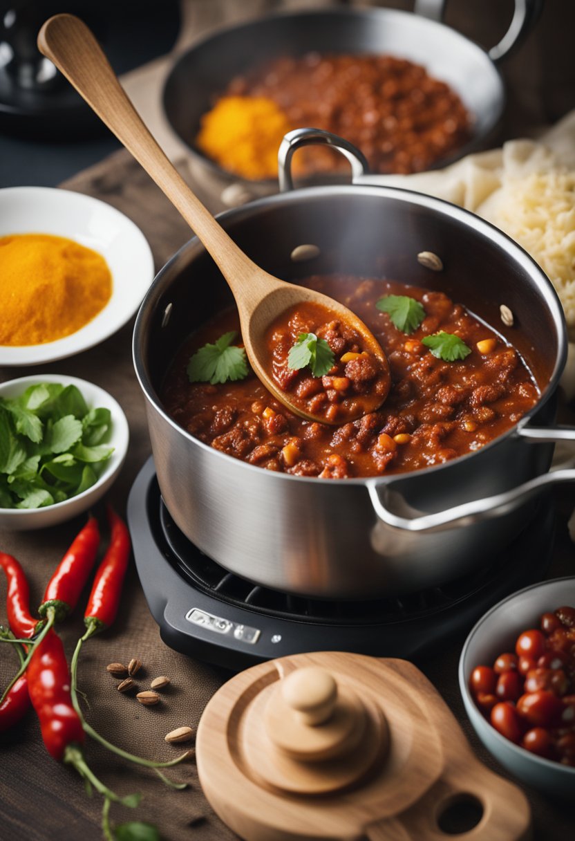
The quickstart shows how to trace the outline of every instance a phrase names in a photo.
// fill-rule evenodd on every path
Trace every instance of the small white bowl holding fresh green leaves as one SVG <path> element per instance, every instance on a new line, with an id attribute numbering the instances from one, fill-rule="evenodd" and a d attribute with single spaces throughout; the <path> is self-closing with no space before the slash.
<path id="1" fill-rule="evenodd" d="M 60 374 L 46 374 L 45 376 L 19 377 L 0 384 L 0 397 L 17 397 L 29 385 L 38 383 L 61 383 L 62 385 L 76 385 L 86 400 L 88 409 L 109 409 L 112 428 L 105 443 L 113 447 L 113 453 L 108 461 L 103 463 L 102 473 L 98 481 L 82 494 L 72 496 L 64 502 L 55 502 L 44 508 L 20 509 L 0 508 L 0 529 L 12 531 L 28 531 L 29 529 L 55 526 L 72 517 L 82 514 L 106 493 L 117 478 L 120 468 L 124 464 L 128 452 L 129 427 L 124 411 L 111 394 L 100 389 L 98 385 L 88 383 L 85 379 L 66 377 Z"/>

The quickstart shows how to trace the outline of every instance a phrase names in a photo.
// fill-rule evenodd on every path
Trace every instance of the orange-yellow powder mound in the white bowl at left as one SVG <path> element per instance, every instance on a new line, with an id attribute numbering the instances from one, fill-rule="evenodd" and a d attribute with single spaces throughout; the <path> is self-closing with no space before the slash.
<path id="1" fill-rule="evenodd" d="M 102 255 L 63 236 L 0 238 L 0 345 L 40 345 L 69 336 L 112 295 Z"/>

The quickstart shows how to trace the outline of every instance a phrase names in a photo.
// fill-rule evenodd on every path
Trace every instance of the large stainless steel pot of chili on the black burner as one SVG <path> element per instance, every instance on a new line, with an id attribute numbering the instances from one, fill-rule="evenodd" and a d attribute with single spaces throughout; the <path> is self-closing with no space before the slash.
<path id="1" fill-rule="evenodd" d="M 524 355 L 541 400 L 504 436 L 437 467 L 375 479 L 273 473 L 204 445 L 171 421 L 158 396 L 183 339 L 231 300 L 195 239 L 171 258 L 136 320 L 135 370 L 146 399 L 161 493 L 182 532 L 256 584 L 325 598 L 419 590 L 488 563 L 521 531 L 534 496 L 575 479 L 547 473 L 552 446 L 575 431 L 547 426 L 566 357 L 561 304 L 519 246 L 476 216 L 418 193 L 320 187 L 261 199 L 219 216 L 257 263 L 295 280 L 321 272 L 401 279 L 462 301 Z M 293 262 L 313 243 L 313 262 Z M 444 271 L 419 264 L 434 251 Z M 514 326 L 500 320 L 500 304 Z"/>

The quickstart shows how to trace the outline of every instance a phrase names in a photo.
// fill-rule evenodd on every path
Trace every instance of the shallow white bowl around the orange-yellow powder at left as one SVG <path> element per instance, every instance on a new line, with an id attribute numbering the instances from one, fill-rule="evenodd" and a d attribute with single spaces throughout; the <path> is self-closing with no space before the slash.
<path id="1" fill-rule="evenodd" d="M 37 365 L 70 357 L 112 336 L 140 306 L 154 278 L 154 260 L 134 222 L 98 198 L 47 187 L 0 189 L 0 236 L 66 236 L 98 251 L 112 272 L 112 297 L 76 333 L 41 345 L 0 345 L 1 365 Z"/>

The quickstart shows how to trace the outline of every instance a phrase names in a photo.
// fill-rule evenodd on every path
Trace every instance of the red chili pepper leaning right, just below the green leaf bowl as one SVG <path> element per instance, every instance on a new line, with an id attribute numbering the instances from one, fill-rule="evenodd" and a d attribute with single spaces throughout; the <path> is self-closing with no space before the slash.
<path id="1" fill-rule="evenodd" d="M 38 612 L 46 616 L 49 608 L 55 611 L 55 620 L 61 621 L 76 607 L 82 588 L 87 582 L 98 553 L 100 532 L 98 521 L 91 517 L 68 549 L 45 590 Z"/>

